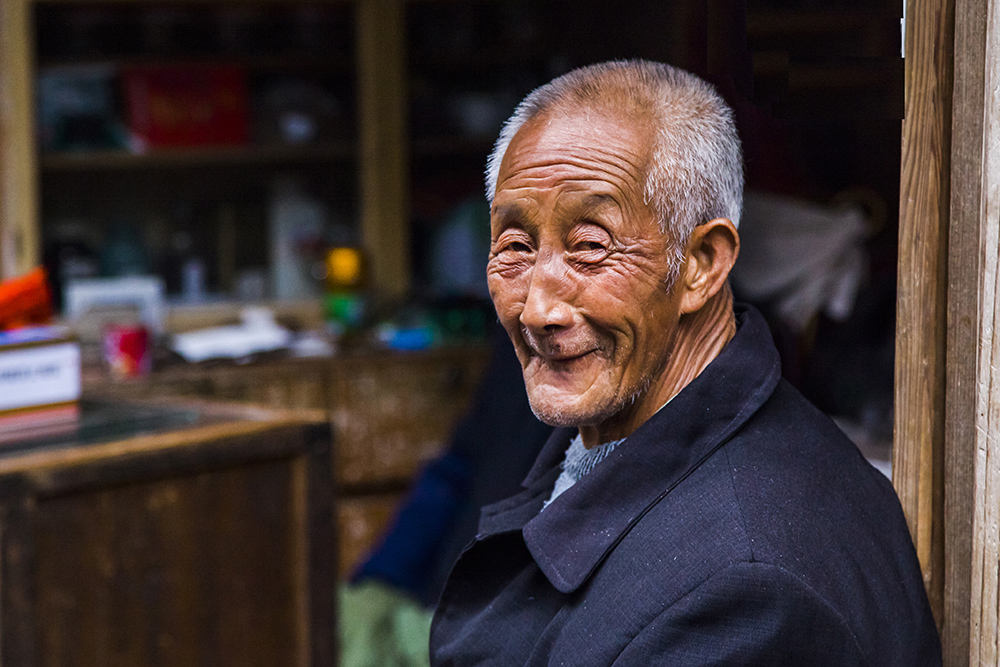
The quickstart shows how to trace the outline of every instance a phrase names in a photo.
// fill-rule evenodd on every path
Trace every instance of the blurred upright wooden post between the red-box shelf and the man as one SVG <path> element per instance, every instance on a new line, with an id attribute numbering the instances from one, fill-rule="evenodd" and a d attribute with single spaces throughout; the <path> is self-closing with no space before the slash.
<path id="1" fill-rule="evenodd" d="M 403 0 L 358 0 L 358 115 L 362 244 L 375 289 L 410 287 L 409 107 Z"/>

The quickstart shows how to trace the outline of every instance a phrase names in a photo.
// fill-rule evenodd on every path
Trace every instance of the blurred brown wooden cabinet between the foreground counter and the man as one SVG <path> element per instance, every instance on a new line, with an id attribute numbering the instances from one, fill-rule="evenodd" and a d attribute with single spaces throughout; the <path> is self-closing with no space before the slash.
<path id="1" fill-rule="evenodd" d="M 178 367 L 141 381 L 86 384 L 123 397 L 323 410 L 336 440 L 339 572 L 346 577 L 381 536 L 414 476 L 448 444 L 487 360 L 484 347 L 373 351 Z"/>

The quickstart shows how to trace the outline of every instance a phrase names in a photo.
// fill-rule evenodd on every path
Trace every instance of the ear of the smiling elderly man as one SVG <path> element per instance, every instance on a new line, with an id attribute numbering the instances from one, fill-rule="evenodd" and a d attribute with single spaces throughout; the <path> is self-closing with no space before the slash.
<path id="1" fill-rule="evenodd" d="M 681 314 L 700 310 L 718 294 L 739 254 L 740 235 L 730 220 L 716 218 L 694 228 L 680 275 Z"/>

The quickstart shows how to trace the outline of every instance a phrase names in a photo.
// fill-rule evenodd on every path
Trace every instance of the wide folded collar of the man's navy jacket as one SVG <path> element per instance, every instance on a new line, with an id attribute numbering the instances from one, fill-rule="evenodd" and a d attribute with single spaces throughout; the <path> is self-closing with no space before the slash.
<path id="1" fill-rule="evenodd" d="M 702 373 L 544 512 L 575 429 L 549 438 L 525 491 L 483 510 L 481 532 L 523 526 L 538 567 L 563 593 L 580 587 L 642 516 L 770 397 L 781 375 L 767 324 L 737 308 L 737 332 Z"/>

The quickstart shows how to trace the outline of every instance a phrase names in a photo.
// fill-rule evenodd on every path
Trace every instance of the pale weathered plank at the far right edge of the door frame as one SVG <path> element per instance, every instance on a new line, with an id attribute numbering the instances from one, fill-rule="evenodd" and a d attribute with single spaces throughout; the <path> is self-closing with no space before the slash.
<path id="1" fill-rule="evenodd" d="M 984 95 L 976 105 L 983 114 L 983 151 L 971 581 L 973 665 L 1000 664 L 1000 3 L 990 0 L 985 9 Z"/>

